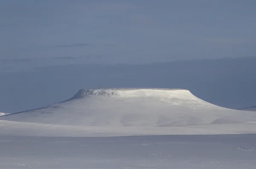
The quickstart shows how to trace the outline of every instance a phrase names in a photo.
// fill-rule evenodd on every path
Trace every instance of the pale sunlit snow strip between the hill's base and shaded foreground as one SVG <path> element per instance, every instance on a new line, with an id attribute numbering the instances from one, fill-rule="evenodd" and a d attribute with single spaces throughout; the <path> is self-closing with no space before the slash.
<path id="1" fill-rule="evenodd" d="M 253 134 L 255 123 L 202 124 L 175 127 L 99 127 L 38 124 L 0 120 L 0 135 L 44 137 L 111 137 L 131 135 Z"/>

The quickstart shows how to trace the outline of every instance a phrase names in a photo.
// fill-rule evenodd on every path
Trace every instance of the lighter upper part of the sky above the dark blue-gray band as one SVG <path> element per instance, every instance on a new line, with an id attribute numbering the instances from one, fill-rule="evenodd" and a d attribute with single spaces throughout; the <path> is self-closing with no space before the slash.
<path id="1" fill-rule="evenodd" d="M 256 56 L 255 0 L 0 0 L 0 71 Z"/>

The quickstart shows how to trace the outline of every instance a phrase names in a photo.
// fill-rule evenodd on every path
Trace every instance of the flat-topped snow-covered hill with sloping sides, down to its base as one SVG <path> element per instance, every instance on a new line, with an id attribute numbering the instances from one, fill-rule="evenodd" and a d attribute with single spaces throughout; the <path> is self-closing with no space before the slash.
<path id="1" fill-rule="evenodd" d="M 255 112 L 231 110 L 182 89 L 82 89 L 47 107 L 1 116 L 0 120 L 108 127 L 168 127 L 256 121 Z"/>

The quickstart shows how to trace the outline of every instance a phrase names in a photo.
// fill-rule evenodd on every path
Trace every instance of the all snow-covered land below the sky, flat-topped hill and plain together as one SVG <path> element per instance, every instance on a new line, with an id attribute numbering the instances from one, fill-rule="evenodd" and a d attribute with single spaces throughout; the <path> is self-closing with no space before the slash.
<path id="1" fill-rule="evenodd" d="M 0 117 L 0 168 L 256 168 L 256 113 L 182 89 L 82 89 Z"/>

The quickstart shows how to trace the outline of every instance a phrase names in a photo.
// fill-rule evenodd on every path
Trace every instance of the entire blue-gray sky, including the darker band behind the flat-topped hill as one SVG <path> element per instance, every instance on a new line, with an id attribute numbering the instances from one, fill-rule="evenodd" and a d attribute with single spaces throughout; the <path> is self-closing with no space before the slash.
<path id="1" fill-rule="evenodd" d="M 186 88 L 224 107 L 253 106 L 255 8 L 255 0 L 0 0 L 0 112 L 88 87 Z"/>

